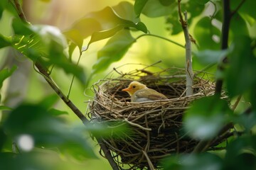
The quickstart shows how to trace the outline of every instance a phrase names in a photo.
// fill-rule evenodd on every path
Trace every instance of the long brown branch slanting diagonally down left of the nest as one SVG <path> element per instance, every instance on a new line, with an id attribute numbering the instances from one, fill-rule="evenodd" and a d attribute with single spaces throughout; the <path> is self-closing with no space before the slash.
<path id="1" fill-rule="evenodd" d="M 19 1 L 18 0 L 14 0 L 14 4 L 16 6 L 16 11 L 18 13 L 18 16 L 21 18 L 21 20 L 23 22 L 28 23 L 28 21 L 26 20 L 26 16 L 24 15 L 23 10 L 21 8 L 21 4 L 19 4 Z M 38 71 L 43 75 L 43 78 L 46 79 L 48 84 L 55 91 L 55 93 L 58 94 L 58 96 L 73 111 L 73 113 L 75 113 L 75 115 L 77 115 L 78 118 L 80 118 L 80 120 L 82 120 L 82 123 L 84 125 L 86 125 L 87 123 L 90 123 L 90 121 L 85 117 L 85 115 L 82 114 L 82 112 L 74 105 L 74 103 L 72 101 L 70 101 L 70 99 L 68 99 L 67 96 L 65 96 L 62 91 L 60 91 L 58 86 L 54 83 L 53 79 L 51 79 L 50 75 L 46 71 L 47 69 L 44 68 L 41 65 L 40 62 L 36 62 L 35 65 L 36 65 L 36 68 L 38 69 Z M 119 166 L 117 165 L 116 162 L 114 162 L 114 159 L 112 158 L 110 150 L 107 148 L 105 143 L 102 141 L 102 138 L 101 137 L 96 137 L 96 139 L 97 139 L 97 142 L 99 143 L 102 151 L 104 152 L 106 159 L 108 160 L 108 162 L 112 166 L 112 169 L 119 170 Z"/>

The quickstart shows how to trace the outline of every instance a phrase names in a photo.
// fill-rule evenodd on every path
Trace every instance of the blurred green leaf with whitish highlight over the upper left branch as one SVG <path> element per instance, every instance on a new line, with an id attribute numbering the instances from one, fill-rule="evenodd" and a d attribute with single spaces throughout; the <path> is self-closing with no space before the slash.
<path id="1" fill-rule="evenodd" d="M 34 62 L 40 62 L 43 67 L 55 65 L 67 74 L 75 75 L 82 84 L 85 84 L 82 67 L 68 60 L 68 55 L 64 51 L 68 45 L 58 28 L 31 26 L 18 20 L 14 20 L 13 27 L 16 33 L 13 47 L 16 50 Z"/>

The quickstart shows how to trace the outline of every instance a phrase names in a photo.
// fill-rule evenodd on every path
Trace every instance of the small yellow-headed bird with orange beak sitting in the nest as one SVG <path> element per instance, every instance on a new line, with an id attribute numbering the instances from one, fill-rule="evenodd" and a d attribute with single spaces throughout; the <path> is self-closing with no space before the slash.
<path id="1" fill-rule="evenodd" d="M 131 96 L 132 102 L 156 101 L 168 99 L 164 94 L 160 94 L 154 89 L 149 89 L 145 84 L 132 81 L 129 86 L 122 91 L 126 91 Z"/>

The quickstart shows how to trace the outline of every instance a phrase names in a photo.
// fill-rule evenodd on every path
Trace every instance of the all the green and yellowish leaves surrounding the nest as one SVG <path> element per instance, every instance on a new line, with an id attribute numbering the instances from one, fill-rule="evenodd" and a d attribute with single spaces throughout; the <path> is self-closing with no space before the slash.
<path id="1" fill-rule="evenodd" d="M 223 6 L 223 3 L 228 3 L 228 6 Z M 182 10 L 188 11 L 188 26 L 194 26 L 191 31 L 196 39 L 194 65 L 201 68 L 208 64 L 217 65 L 218 69 L 214 72 L 217 81 L 223 83 L 220 89 L 225 89 L 230 101 L 239 102 L 242 97 L 250 106 L 234 111 L 235 107 L 220 99 L 218 94 L 194 101 L 183 118 L 188 135 L 208 142 L 220 135 L 227 123 L 235 124 L 231 131 L 237 135 L 228 140 L 222 157 L 218 156 L 218 152 L 206 152 L 206 148 L 200 154 L 182 154 L 165 159 L 163 164 L 166 169 L 255 169 L 255 3 L 254 0 L 181 1 Z M 81 84 L 88 80 L 82 67 L 72 62 L 75 47 L 82 53 L 92 43 L 107 39 L 106 45 L 98 50 L 97 62 L 92 67 L 92 74 L 98 74 L 122 59 L 138 38 L 151 35 L 146 23 L 141 21 L 142 15 L 152 20 L 165 17 L 166 31 L 171 35 L 182 31 L 177 14 L 178 4 L 173 0 L 136 0 L 134 4 L 122 1 L 117 6 L 88 13 L 63 33 L 53 26 L 31 25 L 22 21 L 14 1 L 0 1 L 0 18 L 4 17 L 4 11 L 11 13 L 13 18 L 10 26 L 13 34 L 0 34 L 0 48 L 12 47 L 33 64 L 40 63 L 49 75 L 52 68 L 58 67 L 66 74 L 72 74 Z M 223 18 L 223 13 L 227 12 L 230 21 Z M 134 38 L 138 33 L 141 35 Z M 83 47 L 85 38 L 90 38 L 90 41 Z M 228 48 L 223 45 L 225 42 L 228 42 Z M 15 71 L 16 66 L 0 71 L 0 87 Z M 49 78 L 46 77 L 46 80 L 49 81 Z M 217 86 L 219 84 L 216 84 L 216 89 Z M 23 103 L 16 108 L 0 106 L 0 110 L 9 111 L 0 123 L 0 169 L 6 169 L 9 164 L 9 169 L 49 169 L 48 164 L 40 163 L 42 155 L 46 162 L 57 167 L 47 159 L 59 159 L 49 152 L 52 148 L 58 149 L 60 155 L 71 155 L 76 159 L 95 157 L 81 134 L 94 131 L 94 134 L 106 135 L 106 132 L 100 133 L 106 128 L 80 127 L 72 130 L 61 117 L 66 112 L 58 111 L 53 106 L 57 100 L 56 96 L 46 96 L 43 101 Z M 107 135 L 111 132 L 107 131 Z M 18 142 L 24 135 L 32 141 L 31 149 L 22 148 Z"/>

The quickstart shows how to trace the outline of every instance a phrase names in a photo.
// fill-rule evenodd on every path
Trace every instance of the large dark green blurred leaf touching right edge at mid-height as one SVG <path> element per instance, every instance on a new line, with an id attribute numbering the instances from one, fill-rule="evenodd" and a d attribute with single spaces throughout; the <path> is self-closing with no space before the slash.
<path id="1" fill-rule="evenodd" d="M 230 47 L 230 65 L 225 69 L 225 79 L 231 97 L 255 90 L 256 57 L 252 52 L 251 42 L 250 38 L 239 36 Z"/>

